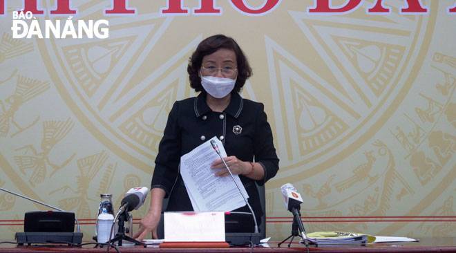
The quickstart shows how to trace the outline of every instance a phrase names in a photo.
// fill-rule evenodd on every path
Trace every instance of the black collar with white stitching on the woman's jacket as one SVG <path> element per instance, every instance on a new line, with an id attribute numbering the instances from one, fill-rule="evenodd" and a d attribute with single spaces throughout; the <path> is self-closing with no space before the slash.
<path id="1" fill-rule="evenodd" d="M 193 102 L 193 109 L 195 110 L 196 117 L 200 117 L 211 111 L 206 103 L 206 95 L 207 94 L 204 92 L 200 93 L 200 95 L 195 98 L 195 102 Z M 231 101 L 223 112 L 233 116 L 234 118 L 238 118 L 240 112 L 243 111 L 243 106 L 244 100 L 240 97 L 239 93 L 231 93 Z"/>

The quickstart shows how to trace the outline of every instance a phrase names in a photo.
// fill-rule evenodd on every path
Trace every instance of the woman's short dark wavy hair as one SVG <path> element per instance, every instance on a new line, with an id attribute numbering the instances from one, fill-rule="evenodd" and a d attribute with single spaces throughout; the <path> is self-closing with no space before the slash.
<path id="1" fill-rule="evenodd" d="M 251 68 L 247 57 L 245 57 L 243 50 L 240 49 L 236 41 L 225 35 L 213 35 L 207 37 L 198 44 L 195 52 L 190 57 L 189 66 L 187 66 L 187 72 L 189 73 L 190 86 L 194 88 L 195 91 L 205 92 L 205 89 L 202 88 L 201 78 L 200 78 L 200 68 L 202 64 L 202 58 L 206 55 L 211 55 L 211 53 L 216 52 L 220 48 L 225 48 L 233 50 L 236 54 L 236 62 L 238 64 L 238 78 L 236 79 L 236 84 L 234 85 L 233 91 L 239 92 L 245 84 L 245 80 L 251 77 Z"/>

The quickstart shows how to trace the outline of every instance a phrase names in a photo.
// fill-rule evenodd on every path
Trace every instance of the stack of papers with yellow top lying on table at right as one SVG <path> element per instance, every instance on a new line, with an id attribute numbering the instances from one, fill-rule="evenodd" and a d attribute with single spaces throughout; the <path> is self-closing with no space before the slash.
<path id="1" fill-rule="evenodd" d="M 316 245 L 363 244 L 375 241 L 374 236 L 348 232 L 313 232 L 307 234 L 307 238 Z"/>

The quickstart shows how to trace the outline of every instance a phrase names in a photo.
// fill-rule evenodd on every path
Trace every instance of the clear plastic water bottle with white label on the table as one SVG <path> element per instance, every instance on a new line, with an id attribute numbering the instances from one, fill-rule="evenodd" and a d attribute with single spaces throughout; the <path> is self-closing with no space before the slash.
<path id="1" fill-rule="evenodd" d="M 101 194 L 102 198 L 99 203 L 97 225 L 95 226 L 95 234 L 97 234 L 97 243 L 107 243 L 109 241 L 109 233 L 114 222 L 112 194 Z M 115 229 L 111 239 L 114 238 Z"/>

